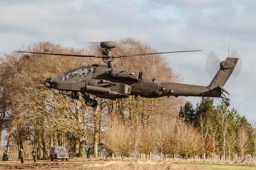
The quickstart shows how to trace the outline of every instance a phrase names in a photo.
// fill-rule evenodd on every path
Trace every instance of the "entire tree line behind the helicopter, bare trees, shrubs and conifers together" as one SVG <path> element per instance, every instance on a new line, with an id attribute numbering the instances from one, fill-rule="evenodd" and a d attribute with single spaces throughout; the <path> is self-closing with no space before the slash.
<path id="1" fill-rule="evenodd" d="M 39 42 L 24 50 L 97 54 L 99 49 L 73 49 L 51 42 Z M 113 54 L 154 52 L 141 42 L 127 38 L 118 42 Z M 101 63 L 95 58 L 6 54 L 0 61 L 0 139 L 1 149 L 15 159 L 23 148 L 37 151 L 38 158 L 49 158 L 53 145 L 65 146 L 71 157 L 85 157 L 85 146 L 104 143 L 122 157 L 152 153 L 161 157 L 218 156 L 254 153 L 255 134 L 246 118 L 236 109 L 213 100 L 202 100 L 196 109 L 182 98 L 95 98 L 99 105 L 87 107 L 83 98 L 47 89 L 44 81 L 82 65 Z M 179 81 L 163 56 L 121 58 L 114 65 L 143 71 L 152 79 Z M 184 104 L 184 106 L 183 106 Z M 93 147 L 94 157 L 99 151 Z"/>

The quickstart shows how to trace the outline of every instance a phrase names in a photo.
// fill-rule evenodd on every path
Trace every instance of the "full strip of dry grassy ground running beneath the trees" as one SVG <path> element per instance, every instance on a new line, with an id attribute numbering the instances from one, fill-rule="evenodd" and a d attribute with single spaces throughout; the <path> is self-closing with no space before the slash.
<path id="1" fill-rule="evenodd" d="M 234 165 L 234 164 L 208 164 L 194 162 L 172 162 L 168 160 L 88 160 L 74 159 L 68 162 L 51 162 L 50 160 L 40 160 L 33 164 L 26 161 L 20 164 L 19 161 L 0 162 L 0 169 L 72 169 L 72 170 L 251 170 L 256 169 L 255 165 Z"/>

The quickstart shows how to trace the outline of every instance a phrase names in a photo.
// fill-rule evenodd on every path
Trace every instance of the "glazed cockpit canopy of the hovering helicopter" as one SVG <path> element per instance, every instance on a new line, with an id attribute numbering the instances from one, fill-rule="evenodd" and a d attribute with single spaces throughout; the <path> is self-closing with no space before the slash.
<path id="1" fill-rule="evenodd" d="M 89 73 L 93 73 L 92 66 L 81 66 L 79 68 L 74 68 L 68 72 L 63 73 L 60 76 L 60 81 L 66 81 L 72 79 L 73 77 L 86 77 Z"/>

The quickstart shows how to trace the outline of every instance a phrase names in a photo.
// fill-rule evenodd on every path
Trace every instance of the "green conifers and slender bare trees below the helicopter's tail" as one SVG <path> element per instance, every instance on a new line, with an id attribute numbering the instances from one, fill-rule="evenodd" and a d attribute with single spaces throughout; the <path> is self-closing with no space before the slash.
<path id="1" fill-rule="evenodd" d="M 179 118 L 198 129 L 201 135 L 204 157 L 230 160 L 236 155 L 244 158 L 250 153 L 255 157 L 255 130 L 234 108 L 223 102 L 214 105 L 210 98 L 193 108 L 190 102 L 180 108 Z"/>

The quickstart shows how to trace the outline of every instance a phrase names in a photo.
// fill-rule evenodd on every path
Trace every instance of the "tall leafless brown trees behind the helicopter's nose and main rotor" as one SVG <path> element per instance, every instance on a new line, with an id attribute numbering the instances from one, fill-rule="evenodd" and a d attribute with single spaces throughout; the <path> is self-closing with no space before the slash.
<path id="1" fill-rule="evenodd" d="M 148 45 L 128 38 L 118 42 L 116 54 L 131 54 L 154 51 Z M 97 54 L 95 47 L 72 49 L 51 42 L 34 43 L 23 50 L 41 52 L 62 52 L 70 54 Z M 86 143 L 97 146 L 104 138 L 109 116 L 118 115 L 118 120 L 129 120 L 147 125 L 154 120 L 154 114 L 161 114 L 159 108 L 170 106 L 164 114 L 178 111 L 180 100 L 151 100 L 133 97 L 120 100 L 97 98 L 99 106 L 87 107 L 84 100 L 70 98 L 70 93 L 47 89 L 44 81 L 56 77 L 72 68 L 92 63 L 102 63 L 95 58 L 68 58 L 58 56 L 24 55 L 15 52 L 2 57 L 0 69 L 0 139 L 8 155 L 23 148 L 35 148 L 38 158 L 48 158 L 52 145 L 65 146 L 70 155 L 84 157 Z M 118 59 L 114 65 L 140 69 L 149 77 L 176 79 L 173 70 L 162 56 Z M 161 68 L 159 70 L 158 68 Z M 129 115 L 127 114 L 129 112 Z M 12 148 L 15 150 L 12 150 Z M 12 150 L 12 151 L 11 151 Z M 97 147 L 94 155 L 97 157 Z"/>

